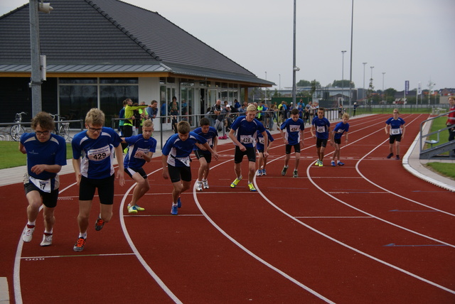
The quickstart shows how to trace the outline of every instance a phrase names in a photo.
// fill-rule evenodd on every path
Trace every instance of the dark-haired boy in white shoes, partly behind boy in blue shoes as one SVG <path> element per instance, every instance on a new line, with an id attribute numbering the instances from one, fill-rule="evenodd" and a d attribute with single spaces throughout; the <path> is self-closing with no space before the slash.
<path id="1" fill-rule="evenodd" d="M 202 136 L 207 140 L 208 145 L 213 151 L 216 151 L 218 145 L 218 132 L 213 126 L 210 126 L 208 118 L 201 118 L 199 128 L 194 129 L 194 133 Z M 202 191 L 202 188 L 208 189 L 208 173 L 210 172 L 210 162 L 212 161 L 212 153 L 207 151 L 203 146 L 195 146 L 193 148 L 196 158 L 198 158 L 200 166 L 198 172 L 198 180 L 196 180 L 196 190 Z"/>

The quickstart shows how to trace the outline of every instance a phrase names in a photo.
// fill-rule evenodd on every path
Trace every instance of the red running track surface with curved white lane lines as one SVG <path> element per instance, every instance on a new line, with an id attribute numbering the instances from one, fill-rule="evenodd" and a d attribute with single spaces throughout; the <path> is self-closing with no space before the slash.
<path id="1" fill-rule="evenodd" d="M 139 205 L 146 211 L 125 210 L 132 180 L 116 186 L 112 221 L 100 232 L 90 227 L 81 253 L 73 251 L 73 174 L 62 177 L 54 241 L 45 248 L 41 219 L 31 243 L 20 241 L 22 186 L 2 187 L 1 201 L 9 203 L 0 215 L 0 276 L 8 277 L 11 299 L 23 303 L 455 303 L 454 193 L 385 158 L 387 118 L 351 119 L 343 167 L 330 166 L 330 146 L 325 166 L 314 166 L 306 130 L 299 178 L 282 177 L 284 146 L 275 136 L 256 193 L 246 178 L 229 187 L 234 150 L 220 146 L 210 189 L 183 194 L 178 216 L 170 215 L 171 183 L 155 158 L 145 167 L 151 191 Z M 404 156 L 427 117 L 402 118 Z M 289 171 L 293 165 L 291 158 Z M 197 161 L 192 168 L 194 178 Z"/>

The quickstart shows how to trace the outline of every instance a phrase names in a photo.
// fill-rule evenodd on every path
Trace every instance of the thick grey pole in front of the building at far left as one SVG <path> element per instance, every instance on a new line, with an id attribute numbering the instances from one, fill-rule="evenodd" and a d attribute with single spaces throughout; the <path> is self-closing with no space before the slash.
<path id="1" fill-rule="evenodd" d="M 31 112 L 32 117 L 41 112 L 40 26 L 38 0 L 30 0 L 30 50 L 31 50 Z"/>

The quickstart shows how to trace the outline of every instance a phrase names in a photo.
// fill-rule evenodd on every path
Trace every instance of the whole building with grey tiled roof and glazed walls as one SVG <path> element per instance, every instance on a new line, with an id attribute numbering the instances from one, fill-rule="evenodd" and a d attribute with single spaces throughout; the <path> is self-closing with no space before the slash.
<path id="1" fill-rule="evenodd" d="M 51 4 L 51 13 L 38 13 L 41 54 L 47 56 L 43 111 L 80 119 L 100 107 L 109 125 L 126 98 L 155 99 L 161 109 L 176 96 L 188 102 L 189 115 L 203 114 L 216 99 L 233 104 L 242 89 L 247 96 L 248 87 L 274 85 L 159 13 L 117 0 Z M 29 27 L 28 4 L 0 17 L 1 122 L 31 113 Z M 195 119 L 190 122 L 195 126 Z"/>

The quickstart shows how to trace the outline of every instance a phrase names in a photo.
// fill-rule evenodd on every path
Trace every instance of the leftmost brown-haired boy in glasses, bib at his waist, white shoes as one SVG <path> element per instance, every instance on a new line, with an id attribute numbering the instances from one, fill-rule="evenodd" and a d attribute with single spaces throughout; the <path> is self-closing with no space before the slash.
<path id="1" fill-rule="evenodd" d="M 19 151 L 27 154 L 27 173 L 24 189 L 28 200 L 28 222 L 23 229 L 22 240 L 30 242 L 35 231 L 36 218 L 43 207 L 44 235 L 41 246 L 52 244 L 54 210 L 58 200 L 59 178 L 62 165 L 66 165 L 66 143 L 62 136 L 51 134 L 55 121 L 50 114 L 39 112 L 31 120 L 33 133 L 24 133 Z"/>

